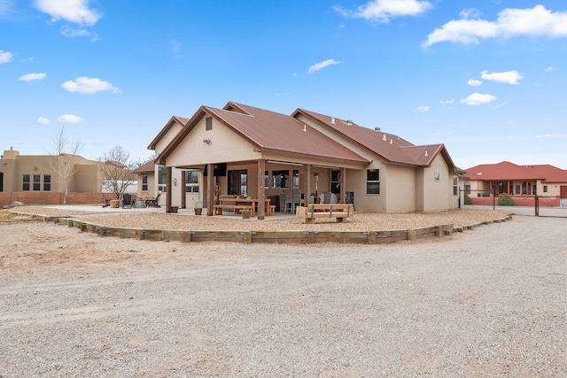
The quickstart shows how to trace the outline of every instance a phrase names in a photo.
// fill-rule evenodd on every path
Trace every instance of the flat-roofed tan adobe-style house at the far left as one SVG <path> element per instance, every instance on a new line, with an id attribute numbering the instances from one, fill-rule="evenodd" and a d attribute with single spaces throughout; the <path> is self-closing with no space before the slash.
<path id="1" fill-rule="evenodd" d="M 58 166 L 65 168 L 58 168 Z M 104 163 L 77 155 L 20 155 L 18 150 L 4 150 L 0 158 L 0 198 L 2 204 L 11 200 L 24 203 L 60 204 L 58 194 L 65 193 L 61 169 L 66 169 L 68 192 L 98 193 L 103 183 Z M 67 168 L 69 167 L 69 168 Z M 7 199 L 6 199 L 7 198 Z"/>

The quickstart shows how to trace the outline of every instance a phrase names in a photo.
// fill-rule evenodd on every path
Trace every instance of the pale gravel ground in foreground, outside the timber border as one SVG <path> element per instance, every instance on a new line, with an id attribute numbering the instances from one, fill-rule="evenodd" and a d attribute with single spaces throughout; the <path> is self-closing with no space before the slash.
<path id="1" fill-rule="evenodd" d="M 565 231 L 290 246 L 0 224 L 0 377 L 566 376 Z"/>

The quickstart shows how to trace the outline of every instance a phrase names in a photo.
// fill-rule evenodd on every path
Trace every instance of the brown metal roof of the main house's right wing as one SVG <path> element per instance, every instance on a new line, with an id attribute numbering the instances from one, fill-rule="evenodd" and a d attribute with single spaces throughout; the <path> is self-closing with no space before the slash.
<path id="1" fill-rule="evenodd" d="M 447 165 L 453 170 L 457 170 L 443 144 L 416 146 L 398 135 L 384 133 L 379 130 L 371 130 L 368 127 L 361 127 L 351 120 L 339 120 L 328 115 L 300 108 L 293 112 L 291 116 L 295 118 L 299 114 L 307 116 L 325 127 L 332 129 L 337 134 L 369 150 L 369 152 L 377 155 L 388 163 L 410 166 L 431 166 L 433 159 L 439 153 L 442 153 L 443 158 L 447 161 Z"/>

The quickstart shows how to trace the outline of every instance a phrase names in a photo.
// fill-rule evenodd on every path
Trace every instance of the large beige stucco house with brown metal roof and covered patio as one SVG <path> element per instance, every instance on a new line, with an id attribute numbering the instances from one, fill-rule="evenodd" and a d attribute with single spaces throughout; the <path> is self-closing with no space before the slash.
<path id="1" fill-rule="evenodd" d="M 285 115 L 233 102 L 201 106 L 190 119 L 172 117 L 148 148 L 155 150 L 154 186 L 167 211 L 203 201 L 212 215 L 218 195 L 275 199 L 283 189 L 299 189 L 310 201 L 332 193 L 359 212 L 459 204 L 460 171 L 443 144 L 416 146 L 303 109 Z"/>

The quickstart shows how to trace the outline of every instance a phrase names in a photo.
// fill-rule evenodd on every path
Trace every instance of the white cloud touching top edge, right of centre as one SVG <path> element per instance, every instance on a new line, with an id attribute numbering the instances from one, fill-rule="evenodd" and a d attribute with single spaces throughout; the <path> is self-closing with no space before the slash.
<path id="1" fill-rule="evenodd" d="M 345 17 L 387 23 L 393 17 L 416 16 L 431 7 L 431 3 L 424 0 L 373 0 L 361 5 L 356 11 L 346 11 L 338 6 L 334 9 Z"/>

